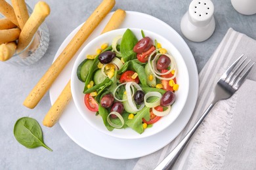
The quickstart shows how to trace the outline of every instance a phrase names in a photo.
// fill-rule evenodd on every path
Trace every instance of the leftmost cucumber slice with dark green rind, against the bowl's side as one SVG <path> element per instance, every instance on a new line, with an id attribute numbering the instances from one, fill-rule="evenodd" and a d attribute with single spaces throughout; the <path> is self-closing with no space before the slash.
<path id="1" fill-rule="evenodd" d="M 85 79 L 92 65 L 93 65 L 93 59 L 85 59 L 77 67 L 77 71 L 76 71 L 77 78 L 81 80 L 81 82 L 85 82 Z"/>

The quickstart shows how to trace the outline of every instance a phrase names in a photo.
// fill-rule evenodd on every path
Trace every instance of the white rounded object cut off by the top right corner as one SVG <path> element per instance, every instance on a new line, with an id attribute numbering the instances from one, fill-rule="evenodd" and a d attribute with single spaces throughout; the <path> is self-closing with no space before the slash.
<path id="1" fill-rule="evenodd" d="M 256 14 L 256 0 L 231 0 L 236 11 L 244 15 Z"/>

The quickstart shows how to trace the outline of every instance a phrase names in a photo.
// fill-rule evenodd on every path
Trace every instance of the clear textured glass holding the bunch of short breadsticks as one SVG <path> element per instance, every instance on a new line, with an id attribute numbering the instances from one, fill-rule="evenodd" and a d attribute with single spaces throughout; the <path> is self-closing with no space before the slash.
<path id="1" fill-rule="evenodd" d="M 7 1 L 9 2 L 9 1 Z M 9 2 L 11 5 L 11 3 Z M 28 13 L 32 14 L 33 10 L 30 8 L 30 6 L 27 4 Z M 5 18 L 0 13 L 0 18 Z M 8 59 L 7 61 L 3 61 L 4 63 L 8 63 L 11 65 L 31 65 L 35 62 L 37 62 L 39 59 L 41 59 L 45 52 L 47 51 L 47 48 L 49 46 L 50 41 L 50 35 L 49 35 L 49 29 L 45 22 L 40 25 L 40 27 L 37 29 L 37 32 L 33 36 L 32 41 L 24 50 L 22 50 L 19 53 L 15 53 L 12 58 Z"/>

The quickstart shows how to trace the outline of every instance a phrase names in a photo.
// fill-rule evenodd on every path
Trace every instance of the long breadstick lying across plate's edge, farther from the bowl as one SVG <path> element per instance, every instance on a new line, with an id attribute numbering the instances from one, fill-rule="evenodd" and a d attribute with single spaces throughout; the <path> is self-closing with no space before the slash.
<path id="1" fill-rule="evenodd" d="M 81 26 L 79 31 L 75 34 L 73 39 L 68 43 L 66 48 L 54 61 L 53 65 L 47 70 L 45 75 L 37 82 L 32 92 L 25 99 L 23 105 L 33 109 L 41 100 L 43 95 L 49 90 L 56 77 L 60 74 L 66 64 L 72 59 L 77 50 L 81 47 L 83 42 L 91 35 L 95 27 L 100 24 L 103 18 L 114 7 L 115 0 L 103 0 L 96 10 L 89 16 L 85 24 Z"/>

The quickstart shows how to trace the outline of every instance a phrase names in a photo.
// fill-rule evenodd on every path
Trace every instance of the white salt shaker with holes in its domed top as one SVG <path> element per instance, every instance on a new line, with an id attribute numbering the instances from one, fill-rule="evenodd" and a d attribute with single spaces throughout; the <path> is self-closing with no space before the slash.
<path id="1" fill-rule="evenodd" d="M 181 20 L 183 35 L 194 42 L 209 39 L 215 30 L 213 12 L 214 6 L 210 0 L 193 0 Z"/>

